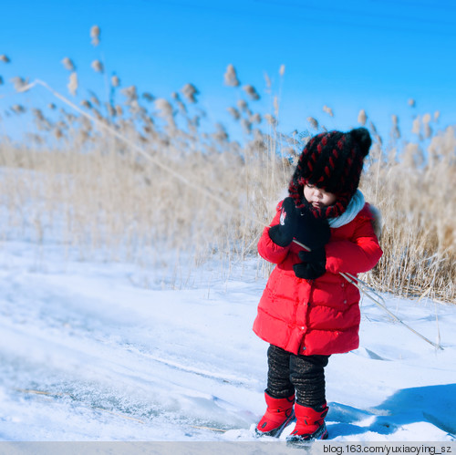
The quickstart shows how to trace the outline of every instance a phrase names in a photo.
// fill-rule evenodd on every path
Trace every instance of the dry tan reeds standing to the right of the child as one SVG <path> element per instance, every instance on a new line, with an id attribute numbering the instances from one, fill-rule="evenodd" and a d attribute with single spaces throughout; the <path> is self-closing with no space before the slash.
<path id="1" fill-rule="evenodd" d="M 362 189 L 383 215 L 384 255 L 369 274 L 382 291 L 455 301 L 456 134 L 448 127 L 426 150 L 408 143 L 371 152 Z M 424 153 L 426 151 L 426 153 Z"/>

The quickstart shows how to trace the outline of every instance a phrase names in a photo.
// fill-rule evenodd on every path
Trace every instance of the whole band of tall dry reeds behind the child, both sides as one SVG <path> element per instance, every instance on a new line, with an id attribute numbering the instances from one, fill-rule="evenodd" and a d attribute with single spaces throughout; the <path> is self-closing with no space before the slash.
<path id="1" fill-rule="evenodd" d="M 91 37 L 98 44 L 99 31 Z M 62 63 L 71 71 L 68 90 L 76 93 L 75 67 L 69 59 Z M 191 254 L 194 264 L 217 255 L 228 267 L 254 256 L 308 137 L 278 132 L 277 98 L 273 112 L 255 112 L 260 95 L 250 85 L 239 87 L 232 65 L 224 78 L 239 90 L 228 110 L 244 129 L 243 145 L 221 124 L 202 127 L 192 84 L 156 99 L 134 86 L 120 88 L 114 77 L 104 103 L 93 93 L 81 99 L 81 109 L 117 138 L 61 99 L 48 108 L 57 119 L 43 108 L 12 109 L 30 112 L 36 130 L 19 145 L 0 142 L 3 236 L 13 229 L 36 242 L 76 246 L 82 257 L 101 251 L 139 263 L 154 256 L 160 264 L 170 250 Z M 324 111 L 333 116 L 327 106 Z M 315 117 L 308 121 L 325 129 Z M 362 110 L 358 122 L 366 121 Z M 431 122 L 430 116 L 415 122 L 422 138 L 400 146 L 397 118 L 388 145 L 368 127 L 374 146 L 361 188 L 382 212 L 384 256 L 366 279 L 380 291 L 454 302 L 456 135 L 437 123 L 432 130 Z"/>

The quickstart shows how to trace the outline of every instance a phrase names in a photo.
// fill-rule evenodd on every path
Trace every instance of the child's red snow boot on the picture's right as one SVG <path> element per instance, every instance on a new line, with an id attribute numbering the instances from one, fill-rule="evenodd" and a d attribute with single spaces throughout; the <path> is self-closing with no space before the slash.
<path id="1" fill-rule="evenodd" d="M 296 403 L 296 426 L 290 436 L 286 437 L 286 441 L 299 444 L 316 439 L 327 439 L 325 417 L 328 410 L 326 403 L 317 409 L 307 408 Z"/>

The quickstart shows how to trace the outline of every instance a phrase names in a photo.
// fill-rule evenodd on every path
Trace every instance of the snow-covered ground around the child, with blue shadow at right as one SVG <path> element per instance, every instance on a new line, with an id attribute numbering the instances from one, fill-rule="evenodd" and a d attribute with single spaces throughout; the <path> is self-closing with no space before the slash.
<path id="1" fill-rule="evenodd" d="M 0 243 L 0 440 L 253 440 L 265 280 L 255 259 L 221 270 L 170 289 L 158 267 Z M 454 440 L 456 305 L 385 298 L 444 350 L 364 299 L 360 348 L 326 369 L 329 438 Z"/>

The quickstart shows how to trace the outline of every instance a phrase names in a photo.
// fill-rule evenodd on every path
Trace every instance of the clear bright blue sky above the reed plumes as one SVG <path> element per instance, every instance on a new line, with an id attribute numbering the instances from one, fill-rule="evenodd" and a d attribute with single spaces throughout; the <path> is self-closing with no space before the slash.
<path id="1" fill-rule="evenodd" d="M 392 114 L 404 132 L 413 116 L 435 110 L 441 127 L 456 124 L 451 1 L 24 0 L 5 2 L 2 16 L 0 55 L 11 63 L 0 62 L 0 114 L 16 102 L 37 106 L 49 99 L 41 88 L 18 98 L 8 82 L 14 76 L 40 78 L 67 94 L 68 72 L 60 62 L 70 57 L 83 87 L 78 100 L 88 88 L 100 98 L 106 93 L 106 79 L 90 67 L 99 58 L 124 87 L 134 84 L 156 97 L 170 98 L 191 82 L 209 119 L 228 122 L 226 108 L 243 96 L 223 86 L 233 64 L 241 83 L 262 95 L 253 109 L 272 109 L 264 73 L 273 80 L 284 132 L 309 129 L 308 116 L 330 129 L 349 129 L 359 109 L 387 134 Z M 101 28 L 98 47 L 90 44 L 93 25 Z M 15 128 L 28 128 L 22 123 Z"/>

